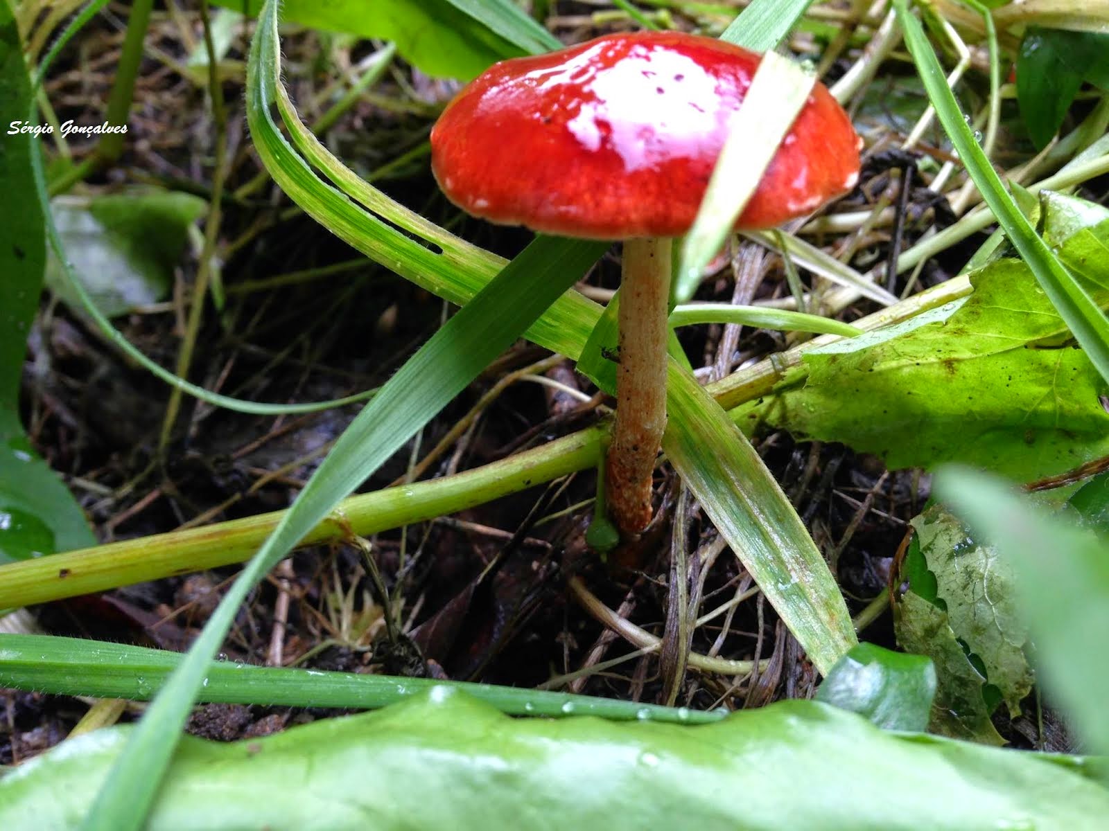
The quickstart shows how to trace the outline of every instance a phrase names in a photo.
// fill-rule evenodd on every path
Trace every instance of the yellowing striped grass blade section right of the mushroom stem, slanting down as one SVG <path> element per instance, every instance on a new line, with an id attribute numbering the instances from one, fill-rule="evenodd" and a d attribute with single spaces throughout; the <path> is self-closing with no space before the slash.
<path id="1" fill-rule="evenodd" d="M 822 674 L 857 642 L 840 587 L 740 429 L 673 361 L 662 440 L 674 468 Z"/>

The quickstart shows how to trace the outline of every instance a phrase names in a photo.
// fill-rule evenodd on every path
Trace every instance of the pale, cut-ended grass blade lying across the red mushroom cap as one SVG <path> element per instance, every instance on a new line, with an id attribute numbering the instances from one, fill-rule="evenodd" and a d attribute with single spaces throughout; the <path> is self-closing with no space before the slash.
<path id="1" fill-rule="evenodd" d="M 678 302 L 693 297 L 705 266 L 759 187 L 815 80 L 777 52 L 763 55 L 742 106 L 732 116 L 696 219 L 682 244 Z"/>

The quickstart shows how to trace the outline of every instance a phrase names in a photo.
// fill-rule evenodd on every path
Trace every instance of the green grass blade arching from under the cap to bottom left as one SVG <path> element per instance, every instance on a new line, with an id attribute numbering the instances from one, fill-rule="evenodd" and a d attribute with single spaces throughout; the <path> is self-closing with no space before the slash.
<path id="1" fill-rule="evenodd" d="M 389 379 L 339 437 L 147 708 L 85 828 L 141 827 L 208 665 L 250 591 L 593 263 L 591 246 L 571 247 L 577 259 L 552 257 L 552 248 L 562 248 L 561 242 L 539 237 L 532 243 Z"/>

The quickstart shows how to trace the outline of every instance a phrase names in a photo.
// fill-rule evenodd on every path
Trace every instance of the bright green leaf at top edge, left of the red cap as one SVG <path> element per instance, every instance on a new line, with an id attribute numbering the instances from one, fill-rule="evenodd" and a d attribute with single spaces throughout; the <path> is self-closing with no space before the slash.
<path id="1" fill-rule="evenodd" d="M 263 0 L 213 1 L 251 16 L 263 6 Z M 282 16 L 315 29 L 394 41 L 405 60 L 427 74 L 469 80 L 505 58 L 558 48 L 519 9 L 506 13 L 508 6 L 508 0 L 285 0 Z M 487 23 L 499 25 L 495 31 Z"/>

